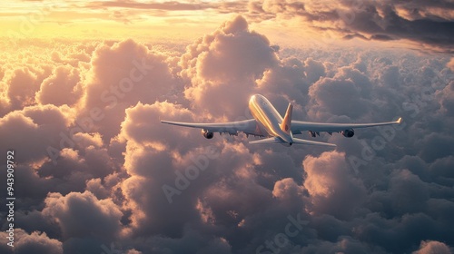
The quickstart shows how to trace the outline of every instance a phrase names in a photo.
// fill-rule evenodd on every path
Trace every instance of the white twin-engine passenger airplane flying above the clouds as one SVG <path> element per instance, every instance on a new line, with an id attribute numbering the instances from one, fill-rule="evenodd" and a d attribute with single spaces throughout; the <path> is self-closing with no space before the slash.
<path id="1" fill-rule="evenodd" d="M 262 143 L 281 143 L 285 146 L 292 144 L 308 144 L 335 147 L 333 143 L 314 142 L 293 137 L 293 133 L 302 134 L 309 132 L 311 137 L 320 136 L 320 132 L 340 132 L 344 137 L 351 138 L 355 134 L 353 128 L 367 128 L 373 126 L 383 126 L 390 124 L 400 124 L 400 117 L 394 122 L 376 123 L 326 123 L 326 122 L 302 122 L 291 120 L 293 105 L 289 103 L 284 117 L 274 108 L 274 106 L 262 94 L 254 94 L 249 100 L 249 109 L 253 119 L 238 122 L 215 122 L 215 123 L 195 123 L 195 122 L 171 122 L 161 121 L 191 128 L 201 128 L 203 137 L 212 139 L 214 132 L 229 133 L 238 135 L 244 132 L 247 136 L 253 135 L 264 137 L 264 139 L 249 142 L 251 144 Z"/>

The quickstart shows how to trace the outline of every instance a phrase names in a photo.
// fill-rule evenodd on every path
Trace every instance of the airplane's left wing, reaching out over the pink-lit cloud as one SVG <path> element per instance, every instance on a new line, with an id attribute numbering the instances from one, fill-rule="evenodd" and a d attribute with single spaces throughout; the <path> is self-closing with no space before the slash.
<path id="1" fill-rule="evenodd" d="M 173 124 L 184 127 L 200 128 L 206 132 L 219 132 L 237 135 L 238 132 L 244 132 L 248 135 L 263 136 L 259 125 L 255 119 L 237 121 L 237 122 L 215 122 L 215 123 L 195 123 L 195 122 L 170 122 L 161 121 L 167 124 Z"/>

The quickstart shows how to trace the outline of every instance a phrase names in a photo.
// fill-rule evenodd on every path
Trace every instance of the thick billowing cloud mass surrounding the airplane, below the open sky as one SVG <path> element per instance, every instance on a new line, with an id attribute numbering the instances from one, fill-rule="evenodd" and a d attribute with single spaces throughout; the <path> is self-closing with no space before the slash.
<path id="1" fill-rule="evenodd" d="M 301 7 L 276 3 L 263 8 Z M 81 66 L 55 56 L 45 72 L 16 68 L 2 79 L 14 84 L 2 94 L 0 135 L 2 151 L 18 153 L 15 253 L 452 253 L 449 55 L 283 56 L 242 16 L 178 57 L 133 40 L 68 52 Z M 52 85 L 75 97 L 62 100 Z M 404 124 L 351 139 L 321 134 L 317 141 L 338 144 L 327 151 L 252 146 L 242 135 L 206 140 L 159 122 L 243 120 L 251 93 L 280 112 L 290 101 L 295 120 Z M 94 108 L 104 119 L 71 134 Z M 5 230 L 2 220 L 0 249 L 11 253 Z"/>

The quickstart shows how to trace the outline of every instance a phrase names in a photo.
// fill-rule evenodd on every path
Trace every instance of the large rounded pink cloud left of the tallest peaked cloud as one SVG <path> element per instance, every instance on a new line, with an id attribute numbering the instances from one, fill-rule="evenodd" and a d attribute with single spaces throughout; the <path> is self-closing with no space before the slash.
<path id="1" fill-rule="evenodd" d="M 99 112 L 99 117 L 92 117 L 90 132 L 100 132 L 109 141 L 120 131 L 126 108 L 139 101 L 154 103 L 171 91 L 175 79 L 165 59 L 133 40 L 98 45 L 87 73 L 90 78 L 79 119 Z"/>

